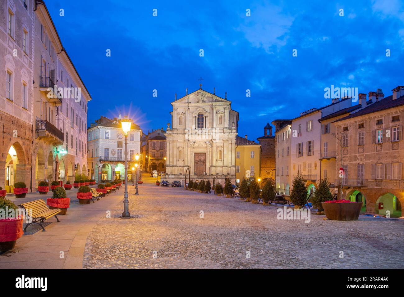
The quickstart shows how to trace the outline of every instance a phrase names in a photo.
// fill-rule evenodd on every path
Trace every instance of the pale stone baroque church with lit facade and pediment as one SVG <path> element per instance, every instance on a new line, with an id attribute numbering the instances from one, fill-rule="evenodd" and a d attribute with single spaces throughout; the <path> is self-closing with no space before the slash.
<path id="1" fill-rule="evenodd" d="M 231 101 L 202 90 L 192 92 L 174 102 L 166 130 L 166 176 L 169 180 L 216 178 L 217 182 L 236 178 L 236 136 L 238 112 Z M 216 182 L 215 181 L 215 182 Z"/>

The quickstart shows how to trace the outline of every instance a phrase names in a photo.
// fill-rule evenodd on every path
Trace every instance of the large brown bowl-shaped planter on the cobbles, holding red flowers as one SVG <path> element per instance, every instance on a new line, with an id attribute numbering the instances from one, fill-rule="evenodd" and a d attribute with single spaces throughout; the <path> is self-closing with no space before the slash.
<path id="1" fill-rule="evenodd" d="M 322 202 L 326 217 L 330 220 L 358 220 L 363 202 L 326 203 Z"/>

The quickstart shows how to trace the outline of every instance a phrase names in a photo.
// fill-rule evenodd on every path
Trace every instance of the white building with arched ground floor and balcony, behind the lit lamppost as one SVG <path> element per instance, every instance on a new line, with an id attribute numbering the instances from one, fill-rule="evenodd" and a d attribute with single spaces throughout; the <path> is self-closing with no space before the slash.
<path id="1" fill-rule="evenodd" d="M 90 178 L 96 182 L 125 178 L 125 136 L 122 131 L 122 117 L 109 119 L 101 116 L 87 130 L 88 168 Z M 133 123 L 128 135 L 128 180 L 132 179 L 135 163 L 141 164 L 141 129 Z M 136 161 L 135 156 L 139 155 Z"/>

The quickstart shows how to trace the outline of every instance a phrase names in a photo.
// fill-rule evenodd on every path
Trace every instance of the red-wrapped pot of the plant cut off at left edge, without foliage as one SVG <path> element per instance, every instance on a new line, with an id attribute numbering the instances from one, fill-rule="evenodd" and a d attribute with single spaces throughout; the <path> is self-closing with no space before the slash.
<path id="1" fill-rule="evenodd" d="M 23 220 L 0 220 L 0 252 L 14 249 L 17 239 L 23 236 Z"/>

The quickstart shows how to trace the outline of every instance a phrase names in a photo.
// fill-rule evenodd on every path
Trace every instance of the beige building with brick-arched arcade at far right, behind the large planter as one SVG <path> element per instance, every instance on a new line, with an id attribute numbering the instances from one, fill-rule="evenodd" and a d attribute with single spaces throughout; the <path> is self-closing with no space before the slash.
<path id="1" fill-rule="evenodd" d="M 366 94 L 360 94 L 361 105 L 366 107 L 332 123 L 342 139 L 344 168 L 336 184 L 342 182 L 342 197 L 363 201 L 369 213 L 389 211 L 391 216 L 404 216 L 404 87 L 393 89 L 393 95 L 386 98 L 380 89 L 368 95 L 366 101 Z M 336 162 L 339 168 L 340 155 Z"/>

